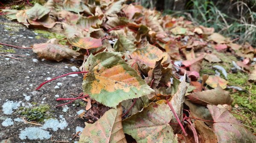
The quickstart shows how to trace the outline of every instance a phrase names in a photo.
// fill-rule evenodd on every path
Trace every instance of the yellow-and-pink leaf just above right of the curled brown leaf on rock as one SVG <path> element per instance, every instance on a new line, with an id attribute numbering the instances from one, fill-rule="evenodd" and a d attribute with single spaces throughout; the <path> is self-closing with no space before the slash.
<path id="1" fill-rule="evenodd" d="M 98 48 L 102 46 L 101 39 L 95 39 L 91 37 L 73 37 L 68 38 L 67 40 L 71 45 L 84 49 Z"/>

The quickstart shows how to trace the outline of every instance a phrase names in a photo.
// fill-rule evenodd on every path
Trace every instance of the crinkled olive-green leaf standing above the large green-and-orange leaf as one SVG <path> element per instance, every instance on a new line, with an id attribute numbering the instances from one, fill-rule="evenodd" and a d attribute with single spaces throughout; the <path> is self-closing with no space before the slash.
<path id="1" fill-rule="evenodd" d="M 125 53 L 126 51 L 133 52 L 135 50 L 135 46 L 136 45 L 131 40 L 126 38 L 126 36 L 122 36 L 119 34 L 119 38 L 114 43 L 113 48 L 116 52 Z"/>

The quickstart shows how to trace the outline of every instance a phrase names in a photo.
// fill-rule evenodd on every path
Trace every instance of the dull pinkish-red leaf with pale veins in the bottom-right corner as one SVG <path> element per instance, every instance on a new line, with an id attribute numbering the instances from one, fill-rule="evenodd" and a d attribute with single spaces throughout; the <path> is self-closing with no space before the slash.
<path id="1" fill-rule="evenodd" d="M 223 106 L 207 105 L 213 121 L 213 132 L 217 135 L 218 143 L 255 143 L 253 135 Z"/>

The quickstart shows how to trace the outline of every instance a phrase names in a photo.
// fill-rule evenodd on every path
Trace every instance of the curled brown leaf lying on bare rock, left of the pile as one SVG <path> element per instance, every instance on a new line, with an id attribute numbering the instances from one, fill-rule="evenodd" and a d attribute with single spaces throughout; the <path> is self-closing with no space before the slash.
<path id="1" fill-rule="evenodd" d="M 79 56 L 80 53 L 71 50 L 64 45 L 55 45 L 50 43 L 35 44 L 32 48 L 40 58 L 61 61 L 62 59 L 71 59 Z"/>

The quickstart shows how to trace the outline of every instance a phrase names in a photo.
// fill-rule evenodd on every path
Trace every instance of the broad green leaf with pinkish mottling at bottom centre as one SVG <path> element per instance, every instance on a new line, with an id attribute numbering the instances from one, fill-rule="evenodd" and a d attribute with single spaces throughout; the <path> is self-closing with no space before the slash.
<path id="1" fill-rule="evenodd" d="M 177 143 L 169 125 L 172 117 L 172 112 L 163 101 L 162 104 L 150 103 L 142 111 L 123 120 L 123 130 L 137 143 Z"/>

